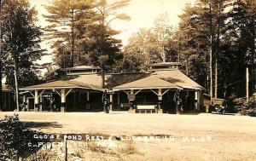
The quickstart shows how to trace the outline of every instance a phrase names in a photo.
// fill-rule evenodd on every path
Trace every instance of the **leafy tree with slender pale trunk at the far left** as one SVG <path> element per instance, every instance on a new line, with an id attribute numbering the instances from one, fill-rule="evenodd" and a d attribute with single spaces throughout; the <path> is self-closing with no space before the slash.
<path id="1" fill-rule="evenodd" d="M 39 46 L 42 32 L 35 26 L 36 11 L 27 0 L 5 0 L 2 12 L 4 76 L 15 90 L 19 110 L 19 87 L 37 80 L 33 61 L 42 55 Z"/>

